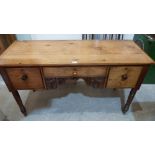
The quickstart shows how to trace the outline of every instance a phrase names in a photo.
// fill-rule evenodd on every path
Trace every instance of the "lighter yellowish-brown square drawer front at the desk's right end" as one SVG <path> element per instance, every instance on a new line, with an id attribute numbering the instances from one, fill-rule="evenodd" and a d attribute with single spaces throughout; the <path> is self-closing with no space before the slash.
<path id="1" fill-rule="evenodd" d="M 107 88 L 134 88 L 142 68 L 141 66 L 111 67 Z"/>

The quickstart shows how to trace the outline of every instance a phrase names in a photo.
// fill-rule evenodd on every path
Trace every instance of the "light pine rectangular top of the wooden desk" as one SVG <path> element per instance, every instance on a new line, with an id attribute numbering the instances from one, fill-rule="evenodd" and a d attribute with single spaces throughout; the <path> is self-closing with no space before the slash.
<path id="1" fill-rule="evenodd" d="M 0 66 L 142 65 L 153 60 L 133 41 L 15 41 Z"/>

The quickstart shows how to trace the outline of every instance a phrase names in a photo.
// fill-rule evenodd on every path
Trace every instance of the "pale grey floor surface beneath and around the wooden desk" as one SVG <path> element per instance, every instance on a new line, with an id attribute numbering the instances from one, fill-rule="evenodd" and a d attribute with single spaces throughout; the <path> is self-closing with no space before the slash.
<path id="1" fill-rule="evenodd" d="M 10 121 L 154 121 L 155 85 L 142 85 L 124 115 L 129 89 L 94 89 L 84 82 L 54 90 L 20 91 L 28 111 L 24 117 L 0 78 L 0 120 Z"/>

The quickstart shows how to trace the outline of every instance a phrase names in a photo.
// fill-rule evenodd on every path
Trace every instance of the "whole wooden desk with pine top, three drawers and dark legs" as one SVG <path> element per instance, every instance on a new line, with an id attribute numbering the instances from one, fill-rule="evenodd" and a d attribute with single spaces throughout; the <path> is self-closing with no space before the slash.
<path id="1" fill-rule="evenodd" d="M 15 41 L 0 56 L 0 71 L 24 115 L 18 90 L 54 89 L 79 78 L 94 88 L 131 88 L 125 113 L 152 63 L 133 41 Z"/>

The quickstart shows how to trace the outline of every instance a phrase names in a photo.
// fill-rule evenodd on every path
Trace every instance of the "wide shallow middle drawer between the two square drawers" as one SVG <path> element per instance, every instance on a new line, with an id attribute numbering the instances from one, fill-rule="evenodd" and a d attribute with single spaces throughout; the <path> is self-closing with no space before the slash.
<path id="1" fill-rule="evenodd" d="M 44 67 L 45 78 L 50 77 L 102 77 L 106 67 Z"/>

